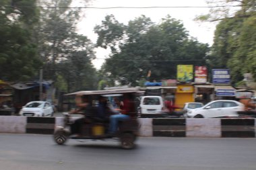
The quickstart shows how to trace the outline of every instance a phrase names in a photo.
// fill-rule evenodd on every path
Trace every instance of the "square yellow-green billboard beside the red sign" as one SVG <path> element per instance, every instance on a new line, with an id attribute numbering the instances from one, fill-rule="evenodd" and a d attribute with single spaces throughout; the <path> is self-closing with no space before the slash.
<path id="1" fill-rule="evenodd" d="M 182 82 L 193 81 L 193 65 L 178 65 L 177 66 L 177 80 Z"/>

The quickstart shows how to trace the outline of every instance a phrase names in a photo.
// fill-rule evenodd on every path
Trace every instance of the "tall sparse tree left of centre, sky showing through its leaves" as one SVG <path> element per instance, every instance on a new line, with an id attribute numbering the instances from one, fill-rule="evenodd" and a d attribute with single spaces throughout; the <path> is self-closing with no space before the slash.
<path id="1" fill-rule="evenodd" d="M 86 3 L 88 1 L 85 1 Z M 67 91 L 96 89 L 96 70 L 91 60 L 94 44 L 75 33 L 80 9 L 69 8 L 71 0 L 41 1 L 38 54 L 44 61 L 44 77 L 63 77 Z"/>

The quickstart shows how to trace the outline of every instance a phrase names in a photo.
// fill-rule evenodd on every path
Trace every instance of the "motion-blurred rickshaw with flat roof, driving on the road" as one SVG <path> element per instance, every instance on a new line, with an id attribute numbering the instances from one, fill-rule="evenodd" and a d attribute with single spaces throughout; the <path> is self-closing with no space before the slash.
<path id="1" fill-rule="evenodd" d="M 135 140 L 139 132 L 139 122 L 137 117 L 137 103 L 135 103 L 135 98 L 141 95 L 141 91 L 137 88 L 127 88 L 127 89 L 109 89 L 101 91 L 77 91 L 75 93 L 69 93 L 67 95 L 74 95 L 76 102 L 82 100 L 82 97 L 87 97 L 90 99 L 90 109 L 84 112 L 84 123 L 79 128 L 80 135 L 73 136 L 71 132 L 71 126 L 73 122 L 71 121 L 70 114 L 64 114 L 64 125 L 57 126 L 53 134 L 54 140 L 57 144 L 65 144 L 68 139 L 78 139 L 78 140 L 104 140 L 104 139 L 115 139 L 121 142 L 122 148 L 133 148 L 135 146 Z M 125 121 L 118 122 L 118 129 L 115 135 L 108 135 L 109 119 L 101 119 L 98 117 L 97 107 L 99 105 L 98 99 L 100 97 L 106 97 L 108 99 L 108 105 L 111 105 L 113 97 L 119 97 L 122 99 L 123 96 L 129 95 L 132 97 L 131 110 L 127 115 L 129 119 Z M 116 113 L 117 114 L 117 113 Z"/>

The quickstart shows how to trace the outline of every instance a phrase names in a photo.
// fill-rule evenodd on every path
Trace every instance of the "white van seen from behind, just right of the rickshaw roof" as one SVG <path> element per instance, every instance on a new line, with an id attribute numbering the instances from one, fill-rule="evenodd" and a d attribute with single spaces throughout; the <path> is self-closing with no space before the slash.
<path id="1" fill-rule="evenodd" d="M 143 96 L 141 97 L 139 107 L 141 115 L 160 114 L 160 112 L 164 109 L 164 101 L 160 96 Z"/>

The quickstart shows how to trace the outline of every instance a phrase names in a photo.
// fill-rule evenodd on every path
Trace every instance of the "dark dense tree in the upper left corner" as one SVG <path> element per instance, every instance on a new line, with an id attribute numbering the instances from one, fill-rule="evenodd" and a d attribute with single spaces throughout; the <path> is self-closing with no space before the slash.
<path id="1" fill-rule="evenodd" d="M 0 7 L 0 78 L 6 81 L 28 81 L 41 66 L 32 40 L 37 10 L 23 8 L 36 1 L 1 1 Z M 30 16 L 33 14 L 32 16 Z"/>

